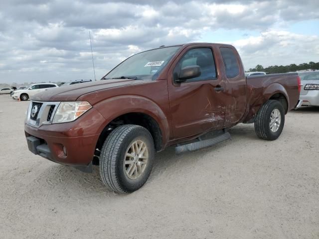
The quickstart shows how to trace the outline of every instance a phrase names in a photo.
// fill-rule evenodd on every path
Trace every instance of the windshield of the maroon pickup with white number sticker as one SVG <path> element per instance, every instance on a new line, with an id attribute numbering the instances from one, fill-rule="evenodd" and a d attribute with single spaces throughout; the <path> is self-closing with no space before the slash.
<path id="1" fill-rule="evenodd" d="M 133 55 L 110 71 L 104 79 L 155 80 L 179 47 L 163 47 Z"/>

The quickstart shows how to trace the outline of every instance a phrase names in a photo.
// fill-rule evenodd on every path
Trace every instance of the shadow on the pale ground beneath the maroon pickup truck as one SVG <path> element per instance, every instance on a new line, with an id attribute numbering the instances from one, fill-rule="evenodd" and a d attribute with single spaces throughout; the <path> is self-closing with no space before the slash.
<path id="1" fill-rule="evenodd" d="M 157 183 L 157 180 L 160 180 L 161 177 L 173 177 L 176 170 L 183 171 L 195 166 L 206 154 L 214 150 L 222 151 L 226 145 L 236 143 L 242 138 L 249 137 L 258 140 L 253 124 L 239 124 L 229 130 L 229 132 L 232 135 L 232 140 L 221 142 L 211 147 L 176 155 L 174 146 L 170 146 L 164 151 L 157 153 L 146 187 L 148 184 L 151 186 L 153 183 Z M 49 191 L 60 191 L 61 193 L 67 191 L 70 192 L 72 197 L 82 197 L 83 195 L 97 198 L 125 197 L 125 195 L 111 192 L 105 187 L 100 178 L 98 166 L 93 166 L 92 173 L 83 173 L 72 167 L 52 163 L 52 166 L 47 167 L 37 177 L 36 181 L 37 187 L 41 187 L 44 191 L 47 190 L 48 193 Z M 141 193 L 141 190 L 137 192 Z M 58 195 L 53 194 L 53 196 Z"/>

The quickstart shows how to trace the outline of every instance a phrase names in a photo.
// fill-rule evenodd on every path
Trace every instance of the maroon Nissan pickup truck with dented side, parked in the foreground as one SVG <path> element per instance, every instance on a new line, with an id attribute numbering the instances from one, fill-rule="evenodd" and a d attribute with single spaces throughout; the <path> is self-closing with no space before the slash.
<path id="1" fill-rule="evenodd" d="M 190 43 L 133 55 L 100 81 L 50 89 L 31 100 L 29 150 L 91 172 L 120 193 L 147 181 L 155 152 L 176 153 L 227 140 L 227 128 L 255 123 L 259 138 L 281 134 L 299 107 L 297 74 L 245 77 L 231 45 Z"/>

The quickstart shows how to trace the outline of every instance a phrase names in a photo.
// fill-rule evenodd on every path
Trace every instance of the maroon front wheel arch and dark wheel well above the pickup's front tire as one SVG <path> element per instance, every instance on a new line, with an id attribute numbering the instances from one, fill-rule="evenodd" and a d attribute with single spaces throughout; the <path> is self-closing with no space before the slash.
<path id="1" fill-rule="evenodd" d="M 170 130 L 168 119 L 153 101 L 137 96 L 121 96 L 102 101 L 94 108 L 106 119 L 99 128 L 97 148 L 101 147 L 114 128 L 122 124 L 136 124 L 147 128 L 154 139 L 156 151 L 165 148 Z"/>

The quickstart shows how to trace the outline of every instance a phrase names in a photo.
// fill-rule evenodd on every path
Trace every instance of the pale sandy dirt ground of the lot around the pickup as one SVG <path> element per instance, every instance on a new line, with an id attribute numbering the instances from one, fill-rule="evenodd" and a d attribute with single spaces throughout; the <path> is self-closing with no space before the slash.
<path id="1" fill-rule="evenodd" d="M 286 116 L 275 141 L 253 124 L 232 140 L 156 156 L 148 182 L 130 195 L 92 174 L 28 151 L 29 102 L 0 96 L 0 238 L 319 238 L 319 108 Z"/>

